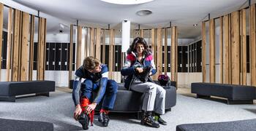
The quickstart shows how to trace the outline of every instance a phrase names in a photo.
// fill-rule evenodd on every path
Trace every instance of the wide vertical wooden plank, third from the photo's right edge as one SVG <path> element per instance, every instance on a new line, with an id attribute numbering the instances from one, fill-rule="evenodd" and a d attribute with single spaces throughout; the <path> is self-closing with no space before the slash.
<path id="1" fill-rule="evenodd" d="M 231 84 L 240 84 L 239 12 L 231 13 Z"/>

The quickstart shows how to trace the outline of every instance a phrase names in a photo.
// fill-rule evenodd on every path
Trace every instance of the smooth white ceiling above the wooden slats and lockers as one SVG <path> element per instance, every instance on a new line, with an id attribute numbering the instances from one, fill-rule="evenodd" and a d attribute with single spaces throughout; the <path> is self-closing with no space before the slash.
<path id="1" fill-rule="evenodd" d="M 100 0 L 13 1 L 51 15 L 47 17 L 48 32 L 59 31 L 59 23 L 68 28 L 76 20 L 79 25 L 108 28 L 110 24 L 110 28 L 121 28 L 121 21 L 128 19 L 132 23 L 131 28 L 138 28 L 138 24 L 140 28 L 168 27 L 171 22 L 178 26 L 178 38 L 187 39 L 200 36 L 200 22 L 208 19 L 208 13 L 211 17 L 219 17 L 248 6 L 246 0 L 154 0 L 137 5 L 108 4 Z M 138 16 L 136 12 L 140 9 L 149 9 L 153 14 Z"/>

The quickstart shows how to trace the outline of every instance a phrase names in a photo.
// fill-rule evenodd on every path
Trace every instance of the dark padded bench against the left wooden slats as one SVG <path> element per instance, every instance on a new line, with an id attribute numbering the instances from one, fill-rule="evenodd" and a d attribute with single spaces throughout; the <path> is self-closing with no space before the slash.
<path id="1" fill-rule="evenodd" d="M 36 95 L 49 96 L 49 92 L 55 91 L 53 81 L 24 81 L 24 82 L 0 82 L 0 101 L 15 102 L 16 95 Z"/>

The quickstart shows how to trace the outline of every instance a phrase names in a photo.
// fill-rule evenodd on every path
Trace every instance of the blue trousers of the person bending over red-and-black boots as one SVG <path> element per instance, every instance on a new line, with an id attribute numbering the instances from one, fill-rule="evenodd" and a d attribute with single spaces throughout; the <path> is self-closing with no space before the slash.
<path id="1" fill-rule="evenodd" d="M 97 92 L 96 97 L 99 99 L 99 102 L 103 98 L 102 108 L 113 109 L 118 84 L 112 79 L 108 79 L 107 85 L 100 86 L 99 84 L 100 82 L 93 83 L 91 80 L 86 79 L 81 85 L 81 97 L 86 97 L 92 102 L 93 92 Z M 99 104 L 99 102 L 97 102 L 97 104 Z"/>

